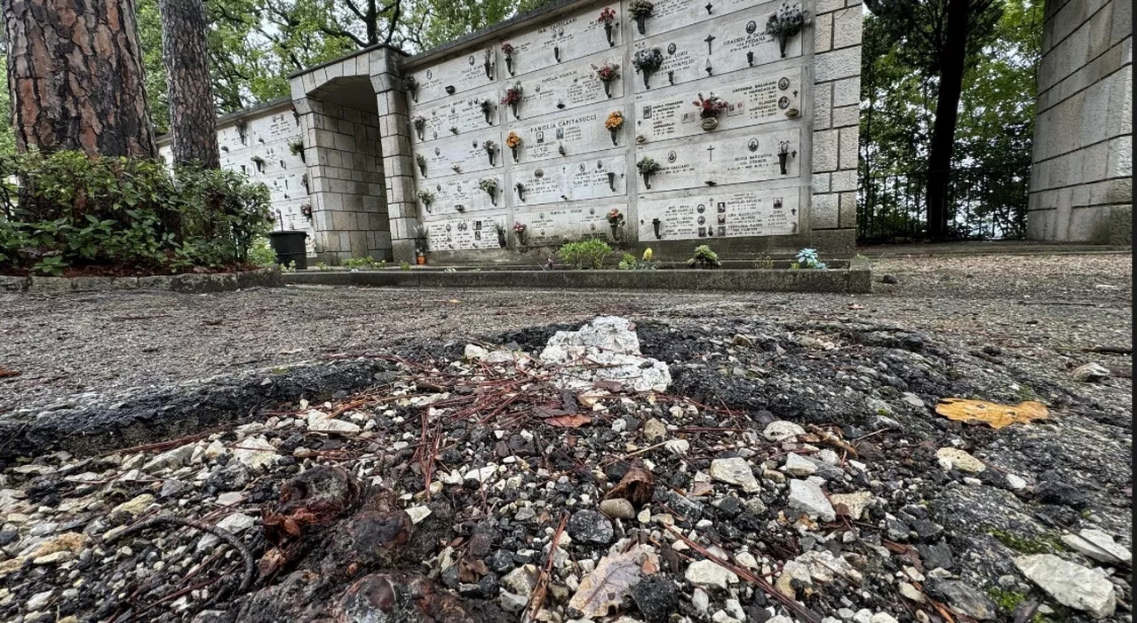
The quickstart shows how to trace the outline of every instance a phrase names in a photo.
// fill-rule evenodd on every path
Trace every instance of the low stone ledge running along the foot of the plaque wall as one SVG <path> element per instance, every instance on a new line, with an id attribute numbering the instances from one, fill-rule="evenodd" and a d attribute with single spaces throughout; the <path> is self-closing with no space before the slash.
<path id="1" fill-rule="evenodd" d="M 305 272 L 283 275 L 296 285 L 398 288 L 564 288 L 614 290 L 681 290 L 746 292 L 871 293 L 872 272 L 854 260 L 850 268 L 661 269 L 661 271 L 357 271 Z"/>

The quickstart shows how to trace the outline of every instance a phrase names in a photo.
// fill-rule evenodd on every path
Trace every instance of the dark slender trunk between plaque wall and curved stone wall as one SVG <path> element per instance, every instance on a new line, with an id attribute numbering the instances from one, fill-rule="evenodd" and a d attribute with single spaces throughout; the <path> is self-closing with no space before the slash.
<path id="1" fill-rule="evenodd" d="M 948 0 L 947 30 L 936 100 L 936 125 L 928 153 L 928 234 L 947 238 L 947 189 L 951 181 L 955 126 L 960 116 L 963 68 L 968 51 L 970 0 Z"/>

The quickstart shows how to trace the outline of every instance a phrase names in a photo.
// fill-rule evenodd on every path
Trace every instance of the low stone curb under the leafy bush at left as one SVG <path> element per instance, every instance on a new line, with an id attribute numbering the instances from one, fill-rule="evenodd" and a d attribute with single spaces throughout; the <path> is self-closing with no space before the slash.
<path id="1" fill-rule="evenodd" d="M 49 277 L 0 275 L 0 291 L 59 293 L 99 292 L 108 290 L 171 290 L 188 294 L 226 292 L 244 288 L 281 288 L 277 268 L 259 268 L 242 273 L 185 273 L 181 275 L 147 275 L 142 277 Z"/>

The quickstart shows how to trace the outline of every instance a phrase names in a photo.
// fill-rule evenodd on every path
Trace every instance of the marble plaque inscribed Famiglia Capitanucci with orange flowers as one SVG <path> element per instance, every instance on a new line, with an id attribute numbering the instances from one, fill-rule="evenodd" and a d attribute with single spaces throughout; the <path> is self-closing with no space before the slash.
<path id="1" fill-rule="evenodd" d="M 550 158 L 563 158 L 561 149 L 565 156 L 572 157 L 594 151 L 613 149 L 616 146 L 626 146 L 631 136 L 631 124 L 626 121 L 624 126 L 616 131 L 615 135 L 604 127 L 604 122 L 608 114 L 619 110 L 628 114 L 623 106 L 604 105 L 599 108 L 581 109 L 568 115 L 541 117 L 539 121 L 526 119 L 514 122 L 506 127 L 506 136 L 509 132 L 516 132 L 521 136 L 522 143 L 517 148 L 517 163 L 533 163 L 548 160 Z M 508 148 L 505 149 L 508 163 L 513 163 L 513 155 Z"/>

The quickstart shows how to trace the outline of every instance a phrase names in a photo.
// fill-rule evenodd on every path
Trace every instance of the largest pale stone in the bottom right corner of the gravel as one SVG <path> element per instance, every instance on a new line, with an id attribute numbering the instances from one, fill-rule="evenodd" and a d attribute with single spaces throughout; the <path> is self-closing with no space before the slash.
<path id="1" fill-rule="evenodd" d="M 1020 556 L 1014 566 L 1063 606 L 1097 617 L 1113 614 L 1117 607 L 1113 583 L 1098 568 L 1086 568 L 1053 554 Z"/>

